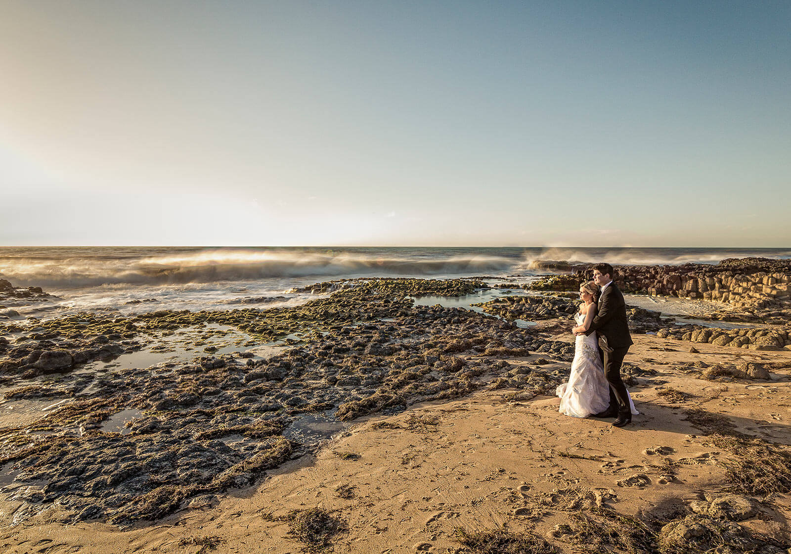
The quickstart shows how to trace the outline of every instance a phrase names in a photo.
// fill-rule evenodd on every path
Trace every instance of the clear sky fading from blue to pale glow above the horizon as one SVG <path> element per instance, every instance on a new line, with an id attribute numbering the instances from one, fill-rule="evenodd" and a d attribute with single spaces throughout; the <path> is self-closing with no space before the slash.
<path id="1" fill-rule="evenodd" d="M 791 2 L 0 10 L 0 245 L 791 245 Z"/>

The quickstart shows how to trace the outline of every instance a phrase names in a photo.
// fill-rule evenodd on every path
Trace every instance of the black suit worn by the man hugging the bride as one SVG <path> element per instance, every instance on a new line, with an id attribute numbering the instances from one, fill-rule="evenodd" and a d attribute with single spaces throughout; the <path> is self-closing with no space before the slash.
<path id="1" fill-rule="evenodd" d="M 621 365 L 629 347 L 634 344 L 629 334 L 629 318 L 626 317 L 626 302 L 623 294 L 610 283 L 599 298 L 596 317 L 585 335 L 599 333 L 599 355 L 604 363 L 604 373 L 610 383 L 610 408 L 619 414 L 631 416 L 629 396 L 621 379 Z"/>

